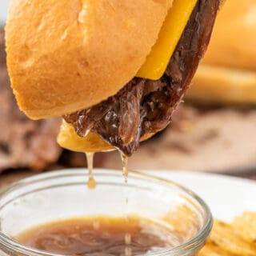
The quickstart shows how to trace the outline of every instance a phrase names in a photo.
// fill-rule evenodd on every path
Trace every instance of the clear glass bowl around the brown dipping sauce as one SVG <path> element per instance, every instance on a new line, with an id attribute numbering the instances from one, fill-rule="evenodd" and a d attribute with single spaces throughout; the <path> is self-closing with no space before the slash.
<path id="1" fill-rule="evenodd" d="M 161 222 L 181 218 L 178 228 L 187 232 L 186 242 L 146 255 L 189 256 L 205 244 L 213 219 L 206 203 L 192 191 L 136 172 L 130 172 L 127 183 L 115 170 L 95 170 L 94 177 L 98 183 L 95 190 L 86 186 L 86 170 L 39 174 L 2 190 L 0 255 L 57 255 L 23 246 L 14 238 L 39 224 L 93 215 L 136 214 Z M 198 226 L 196 230 L 194 224 Z"/>

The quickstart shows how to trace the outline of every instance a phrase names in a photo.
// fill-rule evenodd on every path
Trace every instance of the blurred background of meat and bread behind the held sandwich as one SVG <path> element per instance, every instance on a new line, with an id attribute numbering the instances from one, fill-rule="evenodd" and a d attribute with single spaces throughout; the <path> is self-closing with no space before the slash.
<path id="1" fill-rule="evenodd" d="M 0 186 L 40 171 L 85 167 L 83 154 L 56 143 L 60 119 L 22 114 L 6 71 L 0 2 Z M 226 0 L 209 50 L 190 91 L 166 130 L 142 143 L 132 170 L 191 170 L 256 178 L 256 1 Z M 117 152 L 98 153 L 94 166 L 120 168 Z"/>

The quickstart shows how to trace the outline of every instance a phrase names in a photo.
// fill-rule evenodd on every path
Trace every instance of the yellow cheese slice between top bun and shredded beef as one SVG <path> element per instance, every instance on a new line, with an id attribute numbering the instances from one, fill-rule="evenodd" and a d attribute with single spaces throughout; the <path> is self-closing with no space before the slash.
<path id="1" fill-rule="evenodd" d="M 158 80 L 162 77 L 197 2 L 198 0 L 174 0 L 158 41 L 136 75 L 138 78 Z"/>

